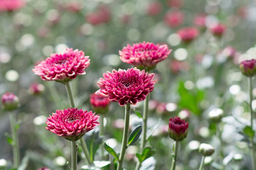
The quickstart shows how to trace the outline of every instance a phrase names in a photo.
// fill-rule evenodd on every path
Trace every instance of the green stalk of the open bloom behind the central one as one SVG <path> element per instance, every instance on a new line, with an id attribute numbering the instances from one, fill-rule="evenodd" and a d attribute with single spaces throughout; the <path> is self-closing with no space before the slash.
<path id="1" fill-rule="evenodd" d="M 141 142 L 141 152 L 143 152 L 143 149 L 146 145 L 146 130 L 147 130 L 147 119 L 149 114 L 149 95 L 146 96 L 146 99 L 144 101 L 144 108 L 143 108 L 143 127 L 142 127 L 142 142 Z"/>

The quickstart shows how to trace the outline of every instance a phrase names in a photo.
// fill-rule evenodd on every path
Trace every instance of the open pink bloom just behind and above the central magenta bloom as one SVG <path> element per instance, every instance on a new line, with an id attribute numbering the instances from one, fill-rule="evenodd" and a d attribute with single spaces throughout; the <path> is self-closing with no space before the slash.
<path id="1" fill-rule="evenodd" d="M 167 45 L 154 45 L 153 42 L 142 42 L 134 45 L 127 45 L 119 51 L 122 62 L 132 64 L 138 69 L 149 71 L 156 67 L 156 64 L 165 60 L 170 54 Z"/>

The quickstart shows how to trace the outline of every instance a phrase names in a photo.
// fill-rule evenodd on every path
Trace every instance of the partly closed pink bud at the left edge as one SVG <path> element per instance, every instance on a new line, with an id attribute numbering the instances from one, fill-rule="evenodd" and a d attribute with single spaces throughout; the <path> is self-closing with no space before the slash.
<path id="1" fill-rule="evenodd" d="M 20 105 L 18 97 L 9 92 L 6 92 L 1 96 L 1 102 L 4 106 L 4 110 L 6 111 L 14 111 Z"/>

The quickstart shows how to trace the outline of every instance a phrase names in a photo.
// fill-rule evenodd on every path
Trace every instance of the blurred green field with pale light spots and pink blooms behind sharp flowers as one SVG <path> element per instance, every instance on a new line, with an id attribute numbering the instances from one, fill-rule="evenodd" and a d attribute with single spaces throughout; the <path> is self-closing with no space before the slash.
<path id="1" fill-rule="evenodd" d="M 220 168 L 220 152 L 226 169 L 250 169 L 249 140 L 242 133 L 250 122 L 244 102 L 248 100 L 247 79 L 240 73 L 239 63 L 256 56 L 255 1 L 28 0 L 12 6 L 4 5 L 4 1 L 0 1 L 0 94 L 10 91 L 20 98 L 16 116 L 21 123 L 18 134 L 26 169 L 67 169 L 70 154 L 67 142 L 44 128 L 48 115 L 68 108 L 65 86 L 41 80 L 32 72 L 35 64 L 52 53 L 62 53 L 66 47 L 84 51 L 90 56 L 90 67 L 85 76 L 72 81 L 72 86 L 76 106 L 91 110 L 90 94 L 97 91 L 102 74 L 131 67 L 119 60 L 119 50 L 144 41 L 167 44 L 172 52 L 151 71 L 157 83 L 149 103 L 152 136 L 148 145 L 156 153 L 142 169 L 169 169 L 173 141 L 166 125 L 175 115 L 189 122 L 177 169 L 198 169 L 201 142 L 215 147 L 205 169 Z M 216 33 L 212 28 L 218 23 L 225 28 Z M 177 33 L 184 27 L 198 29 L 192 42 L 183 42 Z M 44 90 L 35 95 L 34 83 Z M 209 119 L 213 108 L 224 111 L 220 123 Z M 122 140 L 123 110 L 118 103 L 111 103 L 106 116 L 105 140 L 117 151 Z M 132 110 L 131 128 L 142 123 L 135 111 L 142 112 L 142 103 Z M 10 133 L 8 114 L 1 110 L 0 162 L 6 164 L 12 161 L 11 145 L 6 140 Z M 93 132 L 85 136 L 90 135 Z M 135 167 L 137 145 L 127 149 L 127 169 Z M 100 160 L 97 154 L 95 160 Z"/>

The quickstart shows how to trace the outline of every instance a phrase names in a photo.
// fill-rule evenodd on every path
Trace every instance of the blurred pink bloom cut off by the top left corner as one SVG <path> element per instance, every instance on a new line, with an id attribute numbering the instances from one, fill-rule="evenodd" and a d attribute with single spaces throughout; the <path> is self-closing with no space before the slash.
<path id="1" fill-rule="evenodd" d="M 25 2 L 22 0 L 1 0 L 0 1 L 0 11 L 17 11 L 22 8 Z"/>

